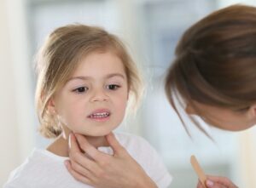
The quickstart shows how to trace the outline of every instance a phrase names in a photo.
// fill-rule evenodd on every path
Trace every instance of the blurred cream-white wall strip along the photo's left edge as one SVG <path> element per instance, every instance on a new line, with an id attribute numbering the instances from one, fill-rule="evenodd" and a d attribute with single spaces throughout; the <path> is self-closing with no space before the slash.
<path id="1" fill-rule="evenodd" d="M 32 149 L 32 95 L 24 1 L 0 1 L 0 185 Z"/>

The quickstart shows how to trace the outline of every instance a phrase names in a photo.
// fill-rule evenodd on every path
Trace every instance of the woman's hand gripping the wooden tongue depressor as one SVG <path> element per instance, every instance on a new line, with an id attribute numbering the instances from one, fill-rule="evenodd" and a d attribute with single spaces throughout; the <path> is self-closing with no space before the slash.
<path id="1" fill-rule="evenodd" d="M 206 185 L 207 188 L 238 188 L 230 179 L 219 176 L 207 176 Z M 197 184 L 197 188 L 204 188 L 200 181 Z"/>

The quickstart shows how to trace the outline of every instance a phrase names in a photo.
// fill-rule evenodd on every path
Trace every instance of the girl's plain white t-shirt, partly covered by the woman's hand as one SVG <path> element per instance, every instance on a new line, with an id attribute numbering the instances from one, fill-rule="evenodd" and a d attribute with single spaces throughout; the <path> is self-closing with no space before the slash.
<path id="1" fill-rule="evenodd" d="M 171 184 L 172 176 L 146 140 L 131 134 L 115 134 L 115 136 L 158 187 L 166 188 Z M 113 154 L 110 147 L 100 147 L 98 150 Z M 90 185 L 77 181 L 69 174 L 64 165 L 65 160 L 67 157 L 34 149 L 31 156 L 12 172 L 3 188 L 91 188 Z"/>

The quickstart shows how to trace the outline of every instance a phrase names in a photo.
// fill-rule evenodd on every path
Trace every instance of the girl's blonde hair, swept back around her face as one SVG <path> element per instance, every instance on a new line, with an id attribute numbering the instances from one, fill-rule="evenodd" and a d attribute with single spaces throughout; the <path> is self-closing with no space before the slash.
<path id="1" fill-rule="evenodd" d="M 111 51 L 122 60 L 133 106 L 142 95 L 142 79 L 137 66 L 118 37 L 96 26 L 67 25 L 53 31 L 37 56 L 38 83 L 36 107 L 40 133 L 46 138 L 61 134 L 55 115 L 48 110 L 49 100 L 67 83 L 84 55 Z"/>

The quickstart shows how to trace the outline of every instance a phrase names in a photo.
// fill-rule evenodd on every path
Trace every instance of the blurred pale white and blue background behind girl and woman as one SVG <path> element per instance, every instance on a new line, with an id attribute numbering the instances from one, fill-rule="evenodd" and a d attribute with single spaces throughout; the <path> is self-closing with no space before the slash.
<path id="1" fill-rule="evenodd" d="M 256 128 L 229 133 L 205 125 L 213 143 L 189 124 L 190 139 L 168 105 L 162 84 L 183 31 L 234 3 L 256 6 L 255 0 L 0 0 L 0 185 L 34 147 L 51 141 L 37 131 L 35 53 L 55 27 L 83 23 L 121 37 L 142 68 L 147 83 L 142 107 L 119 130 L 141 135 L 154 145 L 174 178 L 171 187 L 196 187 L 189 163 L 195 154 L 207 174 L 255 188 Z"/>

